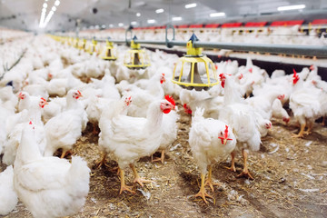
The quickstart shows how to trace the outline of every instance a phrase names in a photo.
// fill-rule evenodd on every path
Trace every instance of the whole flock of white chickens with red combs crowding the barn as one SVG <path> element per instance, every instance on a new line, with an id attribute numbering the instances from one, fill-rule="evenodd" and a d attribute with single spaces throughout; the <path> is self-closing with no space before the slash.
<path id="1" fill-rule="evenodd" d="M 202 181 L 195 196 L 207 203 L 212 196 L 205 186 L 213 191 L 217 185 L 214 163 L 231 156 L 226 170 L 236 172 L 235 154 L 241 152 L 243 172 L 237 176 L 254 178 L 247 160 L 269 134 L 272 117 L 285 125 L 293 119 L 300 130 L 292 136 L 305 137 L 327 113 L 327 84 L 315 65 L 269 76 L 251 59 L 243 66 L 221 62 L 216 64 L 221 83 L 200 92 L 171 82 L 175 54 L 157 50 L 150 55 L 153 64 L 137 71 L 124 67 L 124 46 L 116 62 L 105 62 L 48 36 L 26 41 L 19 46 L 26 48 L 24 57 L 0 81 L 0 154 L 7 165 L 0 173 L 2 215 L 18 199 L 35 217 L 67 216 L 82 209 L 90 169 L 79 156 L 73 154 L 71 161 L 65 157 L 88 123 L 103 152 L 97 166 L 104 167 L 108 159 L 118 163 L 117 194 L 124 194 L 134 193 L 125 183 L 125 169 L 132 169 L 134 183 L 152 183 L 139 176 L 134 163 L 157 151 L 162 156 L 153 161 L 164 163 L 165 151 L 177 138 L 180 114 L 192 116 L 188 142 Z M 54 156 L 58 150 L 60 158 Z"/>

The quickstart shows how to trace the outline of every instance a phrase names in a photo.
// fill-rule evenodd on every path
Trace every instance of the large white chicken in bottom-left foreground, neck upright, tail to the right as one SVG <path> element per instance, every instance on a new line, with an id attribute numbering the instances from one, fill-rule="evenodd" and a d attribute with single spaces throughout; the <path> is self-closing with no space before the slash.
<path id="1" fill-rule="evenodd" d="M 72 163 L 43 157 L 35 141 L 35 126 L 26 124 L 14 168 L 19 199 L 35 217 L 62 217 L 81 210 L 89 191 L 90 169 L 81 157 Z"/>

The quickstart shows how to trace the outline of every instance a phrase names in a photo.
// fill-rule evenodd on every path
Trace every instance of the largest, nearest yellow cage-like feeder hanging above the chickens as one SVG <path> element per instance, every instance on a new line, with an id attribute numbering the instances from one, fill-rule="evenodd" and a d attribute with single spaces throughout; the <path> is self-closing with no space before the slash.
<path id="1" fill-rule="evenodd" d="M 186 55 L 174 66 L 172 82 L 189 90 L 207 90 L 219 82 L 213 61 L 202 54 L 202 48 L 193 47 L 195 41 L 199 39 L 193 34 L 187 42 Z"/>

